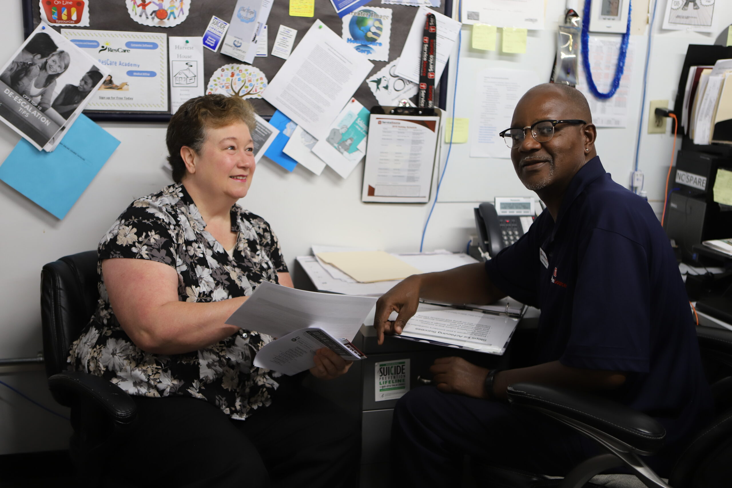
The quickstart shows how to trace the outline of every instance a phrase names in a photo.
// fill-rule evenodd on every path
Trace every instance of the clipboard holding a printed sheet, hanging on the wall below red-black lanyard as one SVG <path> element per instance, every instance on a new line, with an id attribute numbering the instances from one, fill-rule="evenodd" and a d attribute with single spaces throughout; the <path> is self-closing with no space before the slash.
<path id="1" fill-rule="evenodd" d="M 371 109 L 362 202 L 430 201 L 441 116 L 439 108 Z"/>

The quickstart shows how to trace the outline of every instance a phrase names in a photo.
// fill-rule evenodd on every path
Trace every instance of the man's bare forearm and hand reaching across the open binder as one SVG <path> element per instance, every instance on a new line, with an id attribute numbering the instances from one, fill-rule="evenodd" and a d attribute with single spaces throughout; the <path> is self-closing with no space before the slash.
<path id="1" fill-rule="evenodd" d="M 488 279 L 483 263 L 467 264 L 438 273 L 414 274 L 381 296 L 376 302 L 373 326 L 378 343 L 384 334 L 401 334 L 407 320 L 415 312 L 419 299 L 444 301 L 450 304 L 491 304 L 506 293 Z M 393 322 L 389 315 L 397 312 Z"/>

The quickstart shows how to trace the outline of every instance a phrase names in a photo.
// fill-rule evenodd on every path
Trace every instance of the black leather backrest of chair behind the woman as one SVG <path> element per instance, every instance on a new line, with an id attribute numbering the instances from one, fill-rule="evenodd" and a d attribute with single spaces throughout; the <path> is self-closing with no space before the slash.
<path id="1" fill-rule="evenodd" d="M 97 308 L 97 251 L 64 256 L 41 271 L 41 325 L 46 374 L 67 369 L 71 343 Z"/>

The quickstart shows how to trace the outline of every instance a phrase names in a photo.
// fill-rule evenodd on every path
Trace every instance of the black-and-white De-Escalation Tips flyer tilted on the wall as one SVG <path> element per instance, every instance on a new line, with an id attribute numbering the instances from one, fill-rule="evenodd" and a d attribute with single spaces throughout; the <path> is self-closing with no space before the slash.
<path id="1" fill-rule="evenodd" d="M 81 113 L 109 71 L 40 23 L 0 69 L 0 119 L 36 149 Z"/>

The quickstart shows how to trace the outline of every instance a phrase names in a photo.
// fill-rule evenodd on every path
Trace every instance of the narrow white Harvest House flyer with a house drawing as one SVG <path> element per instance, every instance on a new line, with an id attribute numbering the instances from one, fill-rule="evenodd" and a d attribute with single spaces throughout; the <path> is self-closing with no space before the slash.
<path id="1" fill-rule="evenodd" d="M 201 37 L 168 37 L 171 60 L 171 113 L 184 102 L 203 95 Z"/>

